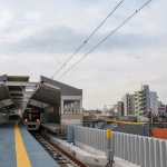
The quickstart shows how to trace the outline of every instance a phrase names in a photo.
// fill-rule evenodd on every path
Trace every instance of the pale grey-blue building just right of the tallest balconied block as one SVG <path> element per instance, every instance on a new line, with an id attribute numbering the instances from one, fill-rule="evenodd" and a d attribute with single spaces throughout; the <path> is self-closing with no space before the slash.
<path id="1" fill-rule="evenodd" d="M 150 110 L 153 114 L 158 115 L 158 97 L 157 92 L 149 92 Z"/>

